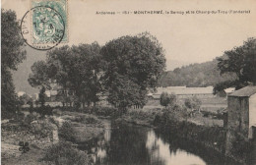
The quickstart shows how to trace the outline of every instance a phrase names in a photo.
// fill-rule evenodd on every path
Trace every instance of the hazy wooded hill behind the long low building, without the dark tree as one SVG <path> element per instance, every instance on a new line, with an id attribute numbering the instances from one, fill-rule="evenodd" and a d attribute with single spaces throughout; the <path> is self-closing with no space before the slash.
<path id="1" fill-rule="evenodd" d="M 201 64 L 190 64 L 165 72 L 160 78 L 159 86 L 186 85 L 202 87 L 215 85 L 224 81 L 235 80 L 234 74 L 220 75 L 218 61 L 214 59 Z"/>

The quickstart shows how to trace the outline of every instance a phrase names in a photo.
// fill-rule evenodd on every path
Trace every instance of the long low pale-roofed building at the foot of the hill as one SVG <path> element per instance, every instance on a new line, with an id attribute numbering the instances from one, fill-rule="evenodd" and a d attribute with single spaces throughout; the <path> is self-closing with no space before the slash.
<path id="1" fill-rule="evenodd" d="M 158 87 L 157 92 L 153 93 L 151 97 L 153 99 L 160 99 L 160 94 L 162 92 L 167 92 L 168 94 L 175 94 L 178 98 L 188 98 L 192 96 L 197 96 L 198 98 L 210 98 L 214 97 L 213 86 L 207 87 L 186 87 L 186 86 L 168 86 L 168 87 Z"/>

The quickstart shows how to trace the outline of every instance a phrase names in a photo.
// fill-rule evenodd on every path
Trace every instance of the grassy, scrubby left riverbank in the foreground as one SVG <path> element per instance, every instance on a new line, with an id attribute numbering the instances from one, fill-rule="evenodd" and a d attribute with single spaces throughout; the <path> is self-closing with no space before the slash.
<path id="1" fill-rule="evenodd" d="M 56 161 L 69 164 L 69 160 L 64 160 L 65 156 L 62 157 L 66 153 L 70 156 L 80 155 L 76 159 L 91 164 L 90 154 L 77 149 L 76 146 L 78 143 L 102 136 L 104 128 L 107 127 L 106 120 L 98 119 L 96 115 L 79 112 L 54 110 L 53 113 L 53 116 L 45 117 L 29 113 L 2 122 L 2 164 L 11 165 L 20 162 L 44 165 L 54 161 L 55 164 Z M 69 128 L 66 128 L 67 124 Z M 67 129 L 70 131 L 68 132 Z M 20 141 L 29 142 L 28 152 L 19 151 Z M 71 148 L 65 150 L 68 145 Z M 54 151 L 59 147 L 66 153 Z"/>

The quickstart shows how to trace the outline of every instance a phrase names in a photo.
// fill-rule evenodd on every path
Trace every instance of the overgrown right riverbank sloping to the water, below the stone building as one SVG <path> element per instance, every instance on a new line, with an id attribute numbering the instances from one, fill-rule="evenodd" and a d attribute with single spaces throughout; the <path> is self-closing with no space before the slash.
<path id="1" fill-rule="evenodd" d="M 147 112 L 129 110 L 127 114 L 115 121 L 151 127 L 163 135 L 175 135 L 175 138 L 184 138 L 218 152 L 225 159 L 236 164 L 244 164 L 246 160 L 245 157 L 237 157 L 241 155 L 239 152 L 245 151 L 246 148 L 240 148 L 240 150 L 234 150 L 233 154 L 225 155 L 226 130 L 223 126 L 223 120 L 205 118 L 199 112 L 190 116 L 184 111 L 173 111 L 173 109 L 151 109 Z"/>

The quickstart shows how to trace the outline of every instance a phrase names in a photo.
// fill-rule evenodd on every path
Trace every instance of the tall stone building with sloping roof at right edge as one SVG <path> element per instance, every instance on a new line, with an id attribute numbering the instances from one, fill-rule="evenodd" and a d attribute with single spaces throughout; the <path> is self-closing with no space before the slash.
<path id="1" fill-rule="evenodd" d="M 227 95 L 227 131 L 253 138 L 256 127 L 256 86 L 250 85 Z"/>

